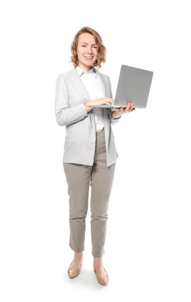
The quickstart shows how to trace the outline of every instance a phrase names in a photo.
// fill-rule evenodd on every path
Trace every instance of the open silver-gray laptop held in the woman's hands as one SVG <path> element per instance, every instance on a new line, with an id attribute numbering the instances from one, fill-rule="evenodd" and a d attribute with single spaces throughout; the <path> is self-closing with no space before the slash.
<path id="1" fill-rule="evenodd" d="M 85 106 L 98 108 L 126 108 L 128 103 L 134 103 L 134 108 L 146 108 L 152 77 L 153 71 L 121 65 L 114 104 Z"/>

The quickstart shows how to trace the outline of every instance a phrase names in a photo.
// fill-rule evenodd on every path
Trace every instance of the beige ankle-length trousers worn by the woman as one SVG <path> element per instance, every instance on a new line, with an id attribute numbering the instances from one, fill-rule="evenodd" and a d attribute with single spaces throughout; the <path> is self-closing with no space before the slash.
<path id="1" fill-rule="evenodd" d="M 91 186 L 91 254 L 105 254 L 108 206 L 112 192 L 116 163 L 107 167 L 105 130 L 96 132 L 93 166 L 63 163 L 69 195 L 69 247 L 77 253 L 84 250 L 85 218 Z"/>

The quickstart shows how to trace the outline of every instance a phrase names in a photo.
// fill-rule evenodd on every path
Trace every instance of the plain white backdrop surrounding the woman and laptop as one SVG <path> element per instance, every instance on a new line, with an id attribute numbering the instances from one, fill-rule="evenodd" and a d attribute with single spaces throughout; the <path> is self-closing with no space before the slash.
<path id="1" fill-rule="evenodd" d="M 190 301 L 188 1 L 18 0 L 3 1 L 0 11 L 1 300 Z M 107 47 L 99 71 L 109 75 L 114 98 L 122 64 L 154 72 L 147 108 L 112 126 L 119 158 L 103 257 L 107 286 L 92 270 L 90 210 L 81 273 L 67 275 L 65 127 L 56 123 L 54 98 L 83 26 Z"/>

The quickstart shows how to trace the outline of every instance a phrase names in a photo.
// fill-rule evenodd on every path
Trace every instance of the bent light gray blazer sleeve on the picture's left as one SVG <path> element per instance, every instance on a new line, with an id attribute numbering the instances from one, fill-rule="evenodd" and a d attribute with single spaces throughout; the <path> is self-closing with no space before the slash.
<path id="1" fill-rule="evenodd" d="M 84 103 L 69 108 L 68 86 L 64 74 L 59 74 L 56 81 L 55 115 L 59 126 L 70 125 L 88 116 Z"/>

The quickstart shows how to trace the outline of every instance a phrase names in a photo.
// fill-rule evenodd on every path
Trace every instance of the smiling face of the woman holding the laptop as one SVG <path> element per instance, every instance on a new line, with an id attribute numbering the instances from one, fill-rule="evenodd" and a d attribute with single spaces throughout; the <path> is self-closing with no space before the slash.
<path id="1" fill-rule="evenodd" d="M 89 33 L 83 33 L 79 35 L 77 44 L 77 57 L 78 66 L 84 71 L 89 71 L 92 68 L 92 64 L 97 59 L 98 45 L 94 40 L 93 35 Z M 86 57 L 91 57 L 90 59 Z"/>

